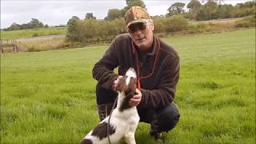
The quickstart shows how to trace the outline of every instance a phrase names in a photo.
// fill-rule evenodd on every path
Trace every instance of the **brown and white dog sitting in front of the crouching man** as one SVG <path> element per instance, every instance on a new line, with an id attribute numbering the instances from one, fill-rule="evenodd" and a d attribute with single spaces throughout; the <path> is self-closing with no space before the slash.
<path id="1" fill-rule="evenodd" d="M 139 116 L 136 106 L 130 107 L 129 100 L 135 94 L 136 72 L 133 68 L 127 70 L 122 78 L 118 90 L 118 104 L 113 110 L 111 118 L 106 117 L 82 140 L 82 144 L 118 143 L 122 138 L 129 144 L 135 144 L 134 133 L 138 126 Z M 110 123 L 109 122 L 110 118 Z M 107 131 L 107 129 L 109 129 Z M 108 139 L 108 134 L 110 142 Z"/>

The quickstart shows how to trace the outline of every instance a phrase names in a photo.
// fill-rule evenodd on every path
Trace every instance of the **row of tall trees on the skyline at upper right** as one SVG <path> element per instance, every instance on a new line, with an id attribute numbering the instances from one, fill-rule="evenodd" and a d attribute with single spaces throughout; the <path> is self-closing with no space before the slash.
<path id="1" fill-rule="evenodd" d="M 174 3 L 170 6 L 169 14 L 166 16 L 171 16 L 173 14 L 182 14 L 185 18 L 205 21 L 218 18 L 242 18 L 248 15 L 255 14 L 255 1 L 237 3 L 235 6 L 230 4 L 222 5 L 220 2 L 224 0 L 208 0 L 204 5 L 202 5 L 197 0 L 191 0 L 186 8 L 188 12 L 184 12 L 184 3 Z M 177 9 L 181 10 L 177 10 Z"/>

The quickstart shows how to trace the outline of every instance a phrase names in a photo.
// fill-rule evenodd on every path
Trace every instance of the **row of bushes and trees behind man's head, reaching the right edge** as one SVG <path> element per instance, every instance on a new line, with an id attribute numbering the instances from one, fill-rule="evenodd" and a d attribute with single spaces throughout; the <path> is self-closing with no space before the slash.
<path id="1" fill-rule="evenodd" d="M 67 22 L 66 38 L 71 42 L 98 42 L 110 41 L 115 35 L 126 33 L 123 18 L 126 10 L 131 6 L 146 8 L 142 0 L 126 0 L 126 4 L 121 10 L 110 9 L 104 20 L 97 20 L 92 13 L 87 13 L 84 19 L 73 16 Z M 185 11 L 185 6 L 185 3 L 176 2 L 168 8 L 168 14 L 152 17 L 154 32 L 159 34 L 187 30 L 191 27 L 187 19 L 210 20 L 255 14 L 255 2 L 232 6 L 218 4 L 215 0 L 208 0 L 203 5 L 198 0 L 191 0 L 187 5 L 188 12 Z M 198 27 L 195 26 L 194 29 Z"/>

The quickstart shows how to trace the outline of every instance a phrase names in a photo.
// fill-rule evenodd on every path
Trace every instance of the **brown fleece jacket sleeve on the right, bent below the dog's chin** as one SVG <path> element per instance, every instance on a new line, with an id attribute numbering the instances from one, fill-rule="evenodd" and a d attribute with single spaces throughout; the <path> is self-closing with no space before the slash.
<path id="1" fill-rule="evenodd" d="M 176 85 L 179 79 L 179 58 L 173 58 L 166 64 L 162 77 L 156 90 L 142 89 L 143 108 L 161 109 L 174 101 Z"/>

